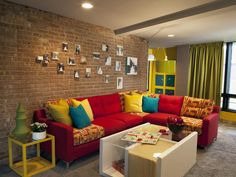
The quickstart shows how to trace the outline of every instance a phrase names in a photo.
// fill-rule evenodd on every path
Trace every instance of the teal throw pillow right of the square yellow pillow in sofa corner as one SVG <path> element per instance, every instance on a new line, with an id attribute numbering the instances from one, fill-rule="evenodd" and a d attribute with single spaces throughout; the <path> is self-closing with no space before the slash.
<path id="1" fill-rule="evenodd" d="M 153 113 L 158 110 L 159 98 L 143 97 L 143 112 Z"/>

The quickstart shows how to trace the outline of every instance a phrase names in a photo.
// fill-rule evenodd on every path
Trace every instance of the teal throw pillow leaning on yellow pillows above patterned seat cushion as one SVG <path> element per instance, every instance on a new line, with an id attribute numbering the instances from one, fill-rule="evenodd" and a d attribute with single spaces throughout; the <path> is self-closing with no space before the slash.
<path id="1" fill-rule="evenodd" d="M 79 105 L 76 108 L 70 106 L 69 113 L 75 128 L 84 128 L 91 124 L 89 116 L 82 105 Z"/>

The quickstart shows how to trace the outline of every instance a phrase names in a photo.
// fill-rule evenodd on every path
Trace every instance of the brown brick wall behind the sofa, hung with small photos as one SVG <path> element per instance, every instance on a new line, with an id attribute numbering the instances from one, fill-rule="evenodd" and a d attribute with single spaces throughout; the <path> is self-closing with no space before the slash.
<path id="1" fill-rule="evenodd" d="M 68 42 L 69 51 L 62 52 L 62 42 Z M 101 51 L 101 44 L 109 45 L 109 52 Z M 87 64 L 67 66 L 79 43 L 81 55 Z M 124 57 L 116 57 L 116 45 L 124 46 Z M 26 108 L 28 124 L 33 110 L 53 98 L 102 95 L 117 92 L 116 77 L 123 76 L 124 89 L 146 88 L 147 41 L 135 36 L 116 36 L 112 30 L 86 22 L 62 17 L 41 10 L 0 0 L 0 161 L 7 159 L 7 135 L 15 126 L 17 103 Z M 57 61 L 47 67 L 36 63 L 35 57 L 60 52 L 65 73 L 57 74 Z M 92 52 L 100 52 L 101 59 L 93 60 Z M 106 56 L 112 57 L 112 66 L 105 66 Z M 125 75 L 125 56 L 138 58 L 138 75 Z M 75 56 L 79 63 L 79 57 Z M 122 71 L 115 72 L 115 60 L 122 63 Z M 103 75 L 96 67 L 103 66 Z M 85 68 L 92 68 L 92 77 L 85 78 Z M 74 69 L 81 77 L 74 80 Z M 104 76 L 110 75 L 110 83 Z"/>

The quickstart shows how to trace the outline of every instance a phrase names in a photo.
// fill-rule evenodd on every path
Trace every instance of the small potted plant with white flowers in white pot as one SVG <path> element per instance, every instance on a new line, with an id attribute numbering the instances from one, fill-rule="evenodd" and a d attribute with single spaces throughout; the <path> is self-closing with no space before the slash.
<path id="1" fill-rule="evenodd" d="M 30 125 L 32 129 L 32 139 L 41 140 L 46 138 L 46 128 L 48 127 L 45 123 L 35 122 Z"/>

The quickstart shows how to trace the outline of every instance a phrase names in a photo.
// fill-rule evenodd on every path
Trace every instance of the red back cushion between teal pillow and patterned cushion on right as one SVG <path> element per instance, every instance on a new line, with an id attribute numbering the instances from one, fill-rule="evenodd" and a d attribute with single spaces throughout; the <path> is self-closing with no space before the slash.
<path id="1" fill-rule="evenodd" d="M 160 95 L 158 112 L 180 115 L 183 105 L 183 96 Z"/>

